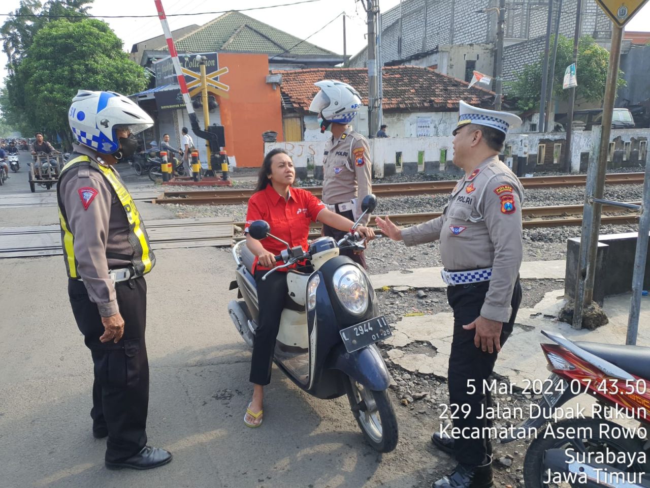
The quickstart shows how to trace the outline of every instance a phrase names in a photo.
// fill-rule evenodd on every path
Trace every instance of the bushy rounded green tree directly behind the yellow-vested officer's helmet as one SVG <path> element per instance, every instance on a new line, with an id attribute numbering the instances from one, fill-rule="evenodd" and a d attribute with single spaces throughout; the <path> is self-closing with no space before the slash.
<path id="1" fill-rule="evenodd" d="M 7 90 L 29 126 L 70 141 L 68 107 L 79 88 L 129 94 L 146 82 L 144 68 L 122 51 L 107 23 L 60 19 L 36 33 Z"/>

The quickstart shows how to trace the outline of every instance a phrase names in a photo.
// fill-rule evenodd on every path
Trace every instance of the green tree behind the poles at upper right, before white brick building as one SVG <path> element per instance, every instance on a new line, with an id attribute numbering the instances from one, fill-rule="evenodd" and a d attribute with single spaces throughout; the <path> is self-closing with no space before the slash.
<path id="1" fill-rule="evenodd" d="M 553 39 L 551 38 L 551 46 Z M 541 98 L 542 59 L 526 64 L 525 68 L 511 83 L 506 83 L 506 92 L 510 98 L 517 100 L 517 108 L 521 111 L 536 110 Z M 573 62 L 573 40 L 560 35 L 558 37 L 558 53 L 553 74 L 553 97 L 556 100 L 567 100 L 570 92 L 564 90 L 564 71 Z M 583 36 L 578 43 L 578 61 L 576 76 L 578 86 L 575 89 L 576 102 L 595 102 L 603 100 L 607 81 L 607 66 L 609 51 L 598 46 L 591 36 Z M 617 88 L 625 87 L 623 72 L 619 70 Z"/>

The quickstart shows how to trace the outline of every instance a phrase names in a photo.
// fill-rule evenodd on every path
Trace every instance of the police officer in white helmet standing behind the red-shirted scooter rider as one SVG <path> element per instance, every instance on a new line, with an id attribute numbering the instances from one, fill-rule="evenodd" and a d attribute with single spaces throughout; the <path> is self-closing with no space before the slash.
<path id="1" fill-rule="evenodd" d="M 320 133 L 328 128 L 331 131 L 323 160 L 322 200 L 331 211 L 356 221 L 363 213 L 363 198 L 372 193 L 372 162 L 368 141 L 348 125 L 359 112 L 361 96 L 357 90 L 342 81 L 326 79 L 315 85 L 320 91 L 309 105 L 309 111 L 317 113 L 322 119 Z M 366 214 L 360 223 L 366 225 L 369 219 L 370 215 Z M 345 233 L 346 231 L 323 225 L 323 235 L 337 241 Z M 367 267 L 363 252 L 357 254 L 344 249 L 341 255 Z"/>

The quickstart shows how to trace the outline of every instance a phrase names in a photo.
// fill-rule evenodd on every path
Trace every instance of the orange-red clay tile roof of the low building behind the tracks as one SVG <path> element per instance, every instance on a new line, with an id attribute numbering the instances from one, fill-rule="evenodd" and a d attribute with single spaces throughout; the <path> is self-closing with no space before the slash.
<path id="1" fill-rule="evenodd" d="M 356 88 L 368 104 L 368 70 L 365 68 L 310 68 L 280 71 L 283 103 L 298 111 L 309 111 L 309 104 L 318 92 L 314 83 L 322 79 L 344 81 Z M 420 66 L 383 67 L 383 110 L 412 110 L 432 112 L 458 111 L 458 102 L 490 108 L 494 92 L 471 87 L 469 83 L 430 68 Z"/>

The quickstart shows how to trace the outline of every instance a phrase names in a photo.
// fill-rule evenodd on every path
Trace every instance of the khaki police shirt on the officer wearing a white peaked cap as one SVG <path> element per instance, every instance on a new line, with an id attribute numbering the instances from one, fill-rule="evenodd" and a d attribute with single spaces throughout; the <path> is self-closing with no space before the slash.
<path id="1" fill-rule="evenodd" d="M 402 230 L 408 246 L 440 239 L 440 256 L 448 271 L 492 268 L 481 308 L 486 319 L 510 319 L 523 258 L 523 195 L 517 176 L 497 156 L 490 157 L 458 181 L 443 215 Z"/>

